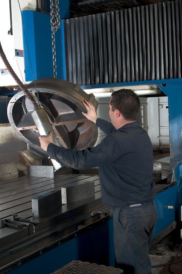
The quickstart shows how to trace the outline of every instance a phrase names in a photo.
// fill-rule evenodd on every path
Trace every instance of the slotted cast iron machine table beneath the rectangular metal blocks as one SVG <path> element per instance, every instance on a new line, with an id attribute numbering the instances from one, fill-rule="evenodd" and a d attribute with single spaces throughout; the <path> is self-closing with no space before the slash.
<path id="1" fill-rule="evenodd" d="M 68 183 L 94 181 L 95 198 L 64 204 L 60 209 L 41 218 L 32 217 L 31 199 L 50 191 L 61 190 Z M 12 214 L 37 222 L 35 233 L 32 228 L 0 229 L 0 273 L 7 264 L 51 244 L 57 238 L 68 235 L 72 228 L 77 229 L 91 211 L 102 205 L 98 176 L 59 174 L 54 179 L 46 177 L 27 177 L 0 182 L 0 219 L 11 219 Z"/>

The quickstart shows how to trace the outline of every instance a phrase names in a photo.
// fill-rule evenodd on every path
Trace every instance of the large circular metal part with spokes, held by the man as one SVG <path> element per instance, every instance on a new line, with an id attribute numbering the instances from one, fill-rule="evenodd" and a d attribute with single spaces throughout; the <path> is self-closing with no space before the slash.
<path id="1" fill-rule="evenodd" d="M 62 79 L 42 78 L 31 82 L 28 90 L 38 98 L 45 109 L 61 145 L 68 149 L 82 150 L 95 144 L 98 131 L 82 112 L 86 112 L 83 100 L 90 101 L 95 109 L 98 102 L 93 94 L 84 92 L 80 85 Z M 7 108 L 8 119 L 21 139 L 42 154 L 39 132 L 32 119 L 30 102 L 23 91 L 14 95 Z"/>

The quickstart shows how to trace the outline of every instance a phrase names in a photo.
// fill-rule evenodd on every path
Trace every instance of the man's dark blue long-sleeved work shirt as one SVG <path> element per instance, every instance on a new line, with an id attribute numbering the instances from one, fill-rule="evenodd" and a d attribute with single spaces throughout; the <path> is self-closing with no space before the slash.
<path id="1" fill-rule="evenodd" d="M 49 144 L 48 155 L 75 169 L 98 166 L 102 200 L 109 206 L 152 200 L 153 153 L 147 132 L 137 122 L 116 130 L 98 118 L 96 125 L 107 135 L 97 146 L 72 151 Z"/>

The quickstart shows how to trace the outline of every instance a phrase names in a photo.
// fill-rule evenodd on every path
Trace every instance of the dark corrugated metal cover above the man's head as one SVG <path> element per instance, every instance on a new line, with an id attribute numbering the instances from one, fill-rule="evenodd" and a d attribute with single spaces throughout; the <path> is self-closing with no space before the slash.
<path id="1" fill-rule="evenodd" d="M 182 78 L 182 1 L 65 20 L 67 80 Z"/>

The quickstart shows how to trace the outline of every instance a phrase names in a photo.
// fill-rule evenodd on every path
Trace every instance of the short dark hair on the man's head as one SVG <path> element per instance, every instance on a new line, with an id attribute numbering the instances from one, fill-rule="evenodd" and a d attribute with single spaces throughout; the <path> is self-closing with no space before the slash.
<path id="1" fill-rule="evenodd" d="M 140 110 L 140 101 L 131 89 L 120 89 L 111 94 L 112 111 L 119 110 L 126 120 L 136 120 Z"/>

